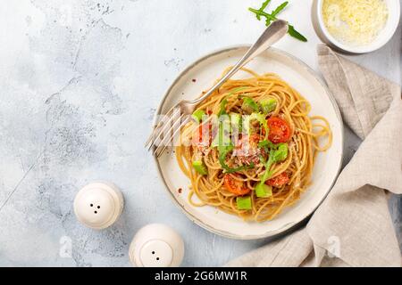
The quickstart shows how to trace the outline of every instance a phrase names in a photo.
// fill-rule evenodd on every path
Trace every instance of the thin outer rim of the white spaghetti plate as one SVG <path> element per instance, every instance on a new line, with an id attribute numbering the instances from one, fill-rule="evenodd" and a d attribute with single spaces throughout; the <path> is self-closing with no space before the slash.
<path id="1" fill-rule="evenodd" d="M 184 77 L 188 71 L 192 68 L 194 68 L 195 66 L 197 66 L 197 64 L 199 64 L 202 61 L 207 60 L 208 58 L 218 55 L 220 53 L 227 53 L 233 50 L 237 50 L 237 49 L 241 49 L 241 48 L 249 48 L 251 45 L 231 45 L 228 47 L 223 47 L 221 49 L 217 49 L 214 50 L 211 53 L 207 53 L 204 56 L 199 57 L 196 61 L 190 63 L 185 69 L 183 69 L 180 74 L 174 79 L 174 81 L 172 82 L 172 84 L 169 86 L 169 88 L 167 89 L 167 91 L 165 92 L 165 94 L 163 94 L 163 99 L 162 101 L 159 103 L 158 108 L 155 111 L 155 117 L 153 120 L 153 126 L 156 125 L 156 118 L 158 115 L 161 114 L 161 110 L 163 108 L 164 102 L 166 101 L 167 96 L 171 93 L 172 88 L 180 81 L 181 77 Z M 315 210 L 320 207 L 320 205 L 322 204 L 322 201 L 328 196 L 328 194 L 330 193 L 330 191 L 332 190 L 333 185 L 335 184 L 335 182 L 338 179 L 339 176 L 339 172 L 340 172 L 340 168 L 342 167 L 342 161 L 343 161 L 343 152 L 344 152 L 344 146 L 343 146 L 343 142 L 344 142 L 344 127 L 343 127 L 343 121 L 342 121 L 342 116 L 340 115 L 340 111 L 339 111 L 339 107 L 337 102 L 335 101 L 335 98 L 333 97 L 333 95 L 331 94 L 330 89 L 328 88 L 328 86 L 323 82 L 322 78 L 319 77 L 317 75 L 317 73 L 314 71 L 314 69 L 310 68 L 304 61 L 301 61 L 299 59 L 297 59 L 297 57 L 295 57 L 294 55 L 284 52 L 281 49 L 278 48 L 274 48 L 274 47 L 270 47 L 269 48 L 270 51 L 272 51 L 273 53 L 281 53 L 282 55 L 288 56 L 291 60 L 293 61 L 297 61 L 297 63 L 299 63 L 301 66 L 303 66 L 307 72 L 309 72 L 319 83 L 320 85 L 322 85 L 322 88 L 325 89 L 326 93 L 328 94 L 328 97 L 331 100 L 331 104 L 336 112 L 337 118 L 339 119 L 340 122 L 340 141 L 341 146 L 340 146 L 340 161 L 339 161 L 339 168 L 337 170 L 337 174 L 335 175 L 335 178 L 333 180 L 333 182 L 331 183 L 331 187 L 329 187 L 329 190 L 323 195 L 321 201 L 317 204 L 317 206 L 315 208 L 313 208 L 311 210 L 311 212 L 306 215 L 306 216 L 302 216 L 301 218 L 297 219 L 297 221 L 288 223 L 288 224 L 284 224 L 280 229 L 274 230 L 274 231 L 268 231 L 268 232 L 264 232 L 264 234 L 259 234 L 259 235 L 245 235 L 245 236 L 238 236 L 235 235 L 231 232 L 226 232 L 226 231 L 222 231 L 222 230 L 218 230 L 215 229 L 212 226 L 209 226 L 208 224 L 204 224 L 202 221 L 200 221 L 197 216 L 191 215 L 190 213 L 188 213 L 188 211 L 183 208 L 180 203 L 177 201 L 177 199 L 174 197 L 172 190 L 169 188 L 168 184 L 166 183 L 166 181 L 164 180 L 163 174 L 162 174 L 162 169 L 161 166 L 159 164 L 158 159 L 154 156 L 154 160 L 155 160 L 155 164 L 156 167 L 158 169 L 158 175 L 161 178 L 161 180 L 163 181 L 164 186 L 166 187 L 166 190 L 169 192 L 169 195 L 171 197 L 171 199 L 174 201 L 174 203 L 176 204 L 176 206 L 178 206 L 181 211 L 188 217 L 188 219 L 190 219 L 193 223 L 199 225 L 200 227 L 204 228 L 205 230 L 207 230 L 208 232 L 213 232 L 217 235 L 220 235 L 222 237 L 225 238 L 229 238 L 229 239 L 234 239 L 234 240 L 260 240 L 260 239 L 264 239 L 264 238 L 268 238 L 268 237 L 274 237 L 277 236 L 279 234 L 281 234 L 282 232 L 286 232 L 289 229 L 296 227 L 297 224 L 302 223 L 303 221 L 306 220 L 307 217 L 311 216 L 312 214 L 314 214 Z"/>

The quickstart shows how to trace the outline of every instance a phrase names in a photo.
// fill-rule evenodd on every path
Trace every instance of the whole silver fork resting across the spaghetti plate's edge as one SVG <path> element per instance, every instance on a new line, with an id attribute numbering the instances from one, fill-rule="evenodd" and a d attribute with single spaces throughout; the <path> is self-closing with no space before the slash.
<path id="1" fill-rule="evenodd" d="M 272 24 L 264 30 L 264 33 L 256 40 L 255 44 L 252 45 L 247 53 L 233 66 L 232 69 L 218 81 L 211 89 L 208 90 L 204 95 L 197 98 L 196 100 L 187 101 L 182 100 L 177 103 L 171 110 L 169 110 L 164 118 L 168 118 L 165 122 L 161 120 L 157 126 L 154 127 L 152 134 L 147 139 L 145 146 L 148 147 L 148 151 L 155 148 L 153 154 L 158 158 L 163 151 L 166 149 L 168 144 L 172 141 L 172 138 L 180 131 L 181 126 L 188 123 L 191 115 L 196 109 L 200 102 L 203 102 L 208 98 L 214 91 L 222 86 L 222 84 L 232 77 L 239 69 L 251 61 L 255 56 L 263 53 L 271 45 L 275 44 L 281 37 L 285 36 L 288 32 L 288 22 L 285 20 L 275 20 Z M 173 131 L 173 133 L 172 133 Z M 170 135 L 172 133 L 172 136 Z M 167 134 L 163 136 L 162 134 Z M 159 142 L 157 142 L 159 140 Z M 157 144 L 157 145 L 156 145 Z M 156 147 L 155 147 L 156 146 Z"/>

